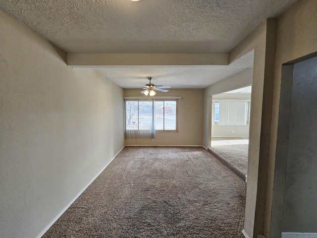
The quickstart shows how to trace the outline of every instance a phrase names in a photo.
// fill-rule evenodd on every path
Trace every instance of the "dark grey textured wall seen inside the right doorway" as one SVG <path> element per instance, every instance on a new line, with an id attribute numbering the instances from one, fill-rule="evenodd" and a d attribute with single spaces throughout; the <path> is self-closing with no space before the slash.
<path id="1" fill-rule="evenodd" d="M 317 233 L 316 65 L 294 65 L 282 232 Z"/>

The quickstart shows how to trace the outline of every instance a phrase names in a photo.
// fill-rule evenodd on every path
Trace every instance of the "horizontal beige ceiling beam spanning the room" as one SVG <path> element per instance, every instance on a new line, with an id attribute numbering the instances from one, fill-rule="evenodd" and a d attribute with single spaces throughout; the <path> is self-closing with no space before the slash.
<path id="1" fill-rule="evenodd" d="M 228 54 L 67 53 L 71 67 L 228 65 Z"/>

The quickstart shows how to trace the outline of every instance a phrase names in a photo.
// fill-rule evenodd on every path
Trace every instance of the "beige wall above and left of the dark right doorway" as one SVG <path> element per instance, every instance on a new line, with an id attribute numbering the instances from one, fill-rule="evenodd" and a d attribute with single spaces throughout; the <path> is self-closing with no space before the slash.
<path id="1" fill-rule="evenodd" d="M 304 57 L 311 53 L 317 52 L 317 1 L 316 0 L 300 0 L 277 21 L 277 40 L 276 40 L 276 59 L 275 59 L 275 75 L 274 75 L 274 91 L 273 91 L 273 111 L 272 111 L 272 127 L 271 127 L 271 144 L 268 161 L 268 186 L 266 194 L 266 210 L 264 221 L 264 234 L 266 238 L 275 238 L 280 233 L 281 227 L 281 208 L 280 199 L 275 200 L 272 205 L 273 184 L 280 182 L 278 175 L 281 173 L 276 171 L 275 151 L 277 139 L 278 110 L 281 87 L 281 67 L 282 64 L 291 60 Z M 278 160 L 278 158 L 276 158 Z M 277 161 L 277 163 L 279 160 Z M 275 180 L 274 180 L 274 171 Z M 272 206 L 274 210 L 272 211 Z M 273 214 L 272 214 L 273 213 Z M 271 221 L 271 216 L 275 220 Z M 272 230 L 271 227 L 274 227 Z M 271 230 L 271 236 L 270 236 Z M 277 233 L 276 233 L 277 232 Z"/>

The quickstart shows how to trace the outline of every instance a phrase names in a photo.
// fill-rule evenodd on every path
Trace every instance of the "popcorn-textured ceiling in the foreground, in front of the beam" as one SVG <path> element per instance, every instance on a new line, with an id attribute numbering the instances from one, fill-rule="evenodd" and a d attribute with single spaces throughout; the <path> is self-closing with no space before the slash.
<path id="1" fill-rule="evenodd" d="M 1 0 L 65 52 L 227 53 L 297 0 Z"/>

